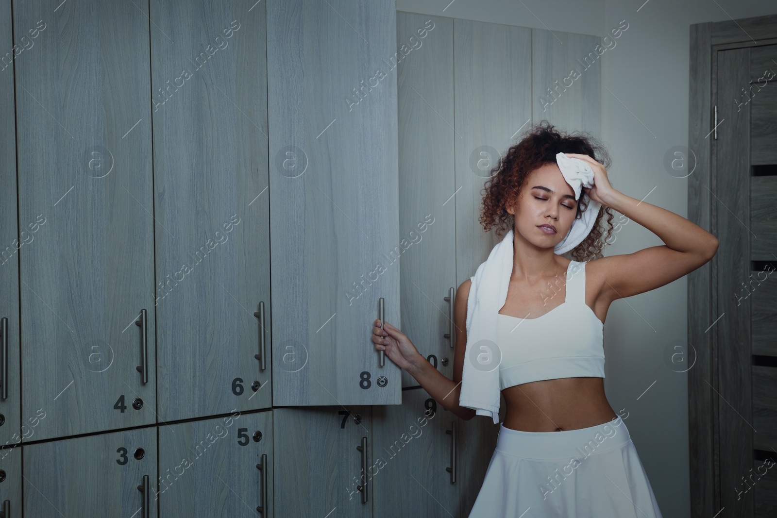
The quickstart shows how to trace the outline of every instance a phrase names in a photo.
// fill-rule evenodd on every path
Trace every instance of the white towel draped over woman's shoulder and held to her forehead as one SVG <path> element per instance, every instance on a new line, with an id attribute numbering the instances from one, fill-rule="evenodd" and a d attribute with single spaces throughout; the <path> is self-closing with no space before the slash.
<path id="1" fill-rule="evenodd" d="M 556 162 L 574 189 L 575 200 L 580 200 L 583 187 L 594 186 L 594 171 L 591 165 L 580 158 L 571 158 L 563 153 L 556 155 Z M 594 227 L 601 203 L 587 196 L 588 207 L 579 220 L 554 248 L 563 254 L 586 238 Z M 467 297 L 467 344 L 462 390 L 458 405 L 475 410 L 476 415 L 491 415 L 494 424 L 499 422 L 500 349 L 497 346 L 497 314 L 507 299 L 507 287 L 513 273 L 513 229 L 507 232 L 501 242 L 470 277 L 472 286 Z"/>

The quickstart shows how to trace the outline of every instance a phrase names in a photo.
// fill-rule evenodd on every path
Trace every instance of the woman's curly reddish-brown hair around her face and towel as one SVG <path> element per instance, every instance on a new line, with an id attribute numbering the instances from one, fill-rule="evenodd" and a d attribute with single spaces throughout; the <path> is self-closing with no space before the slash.
<path id="1" fill-rule="evenodd" d="M 497 236 L 500 238 L 504 231 L 514 228 L 514 215 L 507 212 L 507 204 L 513 203 L 517 198 L 531 171 L 547 163 L 556 164 L 556 153 L 588 155 L 605 168 L 610 167 L 610 156 L 598 139 L 580 131 L 563 133 L 547 120 L 525 130 L 519 138 L 521 141 L 510 146 L 507 153 L 500 157 L 499 163 L 491 169 L 491 176 L 480 191 L 485 196 L 479 221 L 486 232 L 496 227 Z M 588 206 L 587 201 L 588 196 L 583 190 L 580 193 L 575 219 L 582 217 Z M 605 214 L 608 228 L 607 235 L 602 238 L 605 235 Z M 602 257 L 602 250 L 609 244 L 608 239 L 612 235 L 612 217 L 610 208 L 602 205 L 591 232 L 580 245 L 567 252 L 571 255 L 568 259 L 584 262 Z"/>

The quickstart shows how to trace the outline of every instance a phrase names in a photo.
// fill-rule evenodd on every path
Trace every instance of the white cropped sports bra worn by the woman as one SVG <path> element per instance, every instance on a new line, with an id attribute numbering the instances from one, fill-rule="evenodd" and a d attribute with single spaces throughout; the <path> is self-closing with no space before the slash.
<path id="1" fill-rule="evenodd" d="M 559 377 L 605 377 L 605 325 L 585 303 L 585 264 L 566 267 L 563 304 L 537 318 L 497 315 L 500 390 Z"/>

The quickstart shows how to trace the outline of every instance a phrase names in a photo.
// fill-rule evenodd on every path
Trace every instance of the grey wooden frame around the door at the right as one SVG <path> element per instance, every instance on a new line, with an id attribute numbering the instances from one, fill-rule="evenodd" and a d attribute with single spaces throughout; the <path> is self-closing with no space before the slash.
<path id="1" fill-rule="evenodd" d="M 716 55 L 718 50 L 777 44 L 777 15 L 754 16 L 690 26 L 688 89 L 688 220 L 713 235 L 716 228 L 716 148 L 713 144 Z M 707 188 L 709 186 L 709 189 Z M 688 456 L 691 516 L 715 516 L 720 511 L 719 413 L 716 359 L 716 258 L 688 274 Z M 708 332 L 709 331 L 709 332 Z M 695 352 L 695 356 L 694 353 Z"/>

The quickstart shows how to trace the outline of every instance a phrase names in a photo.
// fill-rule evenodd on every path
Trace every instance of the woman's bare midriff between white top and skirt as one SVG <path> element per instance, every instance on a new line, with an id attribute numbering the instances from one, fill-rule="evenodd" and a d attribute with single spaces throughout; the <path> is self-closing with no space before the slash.
<path id="1" fill-rule="evenodd" d="M 601 377 L 531 381 L 502 391 L 503 425 L 524 432 L 558 432 L 597 426 L 618 417 Z"/>

